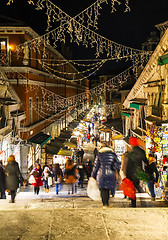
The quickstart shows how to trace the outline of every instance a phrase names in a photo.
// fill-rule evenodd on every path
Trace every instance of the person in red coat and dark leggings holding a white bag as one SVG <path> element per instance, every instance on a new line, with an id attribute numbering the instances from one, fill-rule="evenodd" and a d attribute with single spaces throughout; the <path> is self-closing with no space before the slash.
<path id="1" fill-rule="evenodd" d="M 43 181 L 42 181 L 43 170 L 39 163 L 36 164 L 36 167 L 32 170 L 30 175 L 33 175 L 35 179 L 35 182 L 32 183 L 32 185 L 34 186 L 34 194 L 38 195 L 40 191 L 40 187 L 43 186 Z"/>

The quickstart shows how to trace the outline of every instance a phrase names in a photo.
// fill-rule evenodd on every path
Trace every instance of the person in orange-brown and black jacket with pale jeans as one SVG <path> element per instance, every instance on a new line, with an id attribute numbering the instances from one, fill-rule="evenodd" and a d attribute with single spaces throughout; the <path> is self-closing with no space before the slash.
<path id="1" fill-rule="evenodd" d="M 72 191 L 72 194 L 75 192 L 75 184 L 78 181 L 78 171 L 72 159 L 68 159 L 65 163 L 65 173 L 64 178 L 65 182 L 68 184 L 68 194 Z"/>

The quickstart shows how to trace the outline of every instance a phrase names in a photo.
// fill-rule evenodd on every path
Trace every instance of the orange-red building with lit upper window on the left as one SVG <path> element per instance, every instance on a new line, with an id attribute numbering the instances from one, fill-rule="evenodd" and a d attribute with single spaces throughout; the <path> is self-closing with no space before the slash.
<path id="1" fill-rule="evenodd" d="M 18 154 L 23 172 L 27 171 L 28 153 L 30 167 L 41 158 L 42 145 L 73 119 L 73 109 L 84 110 L 89 87 L 86 78 L 77 81 L 83 76 L 51 45 L 43 40 L 38 46 L 31 44 L 38 38 L 23 22 L 0 16 L 0 157 L 5 162 L 9 154 Z M 10 141 L 4 147 L 8 132 Z M 30 151 L 32 138 L 40 140 Z M 8 150 L 11 143 L 19 146 L 18 153 Z"/>

